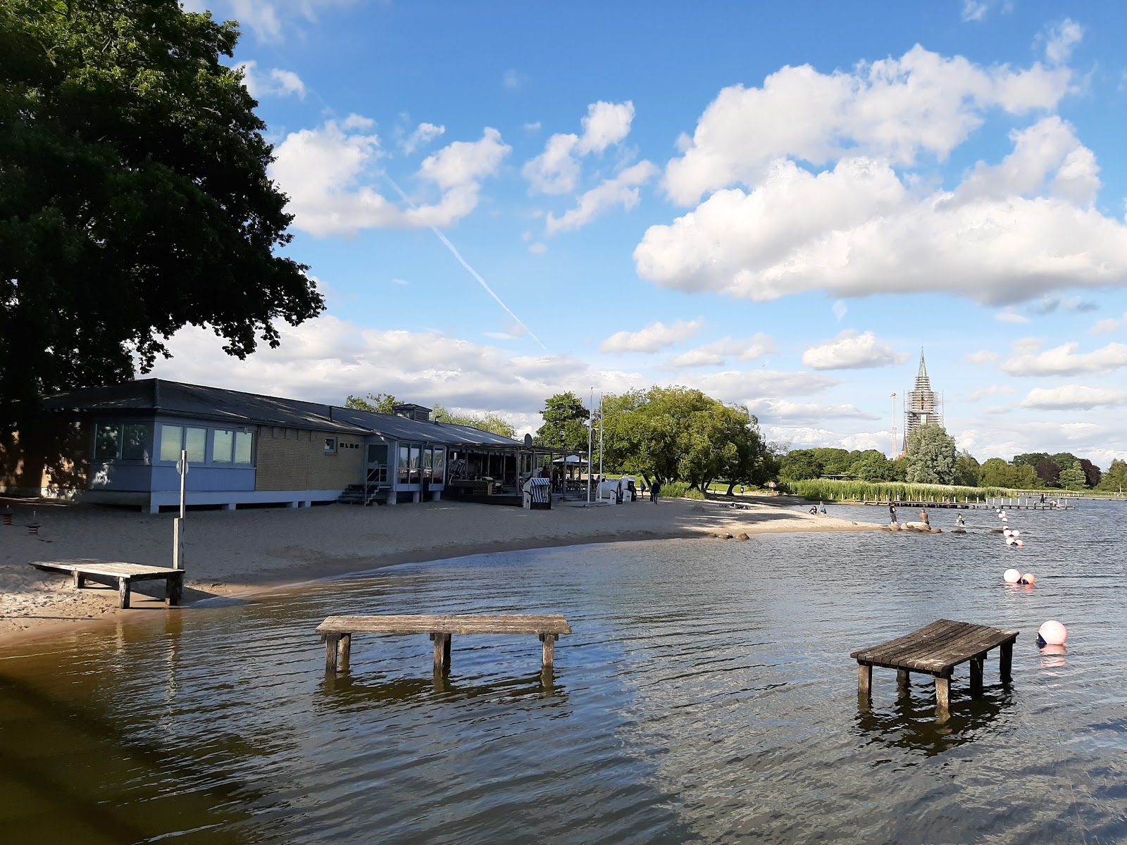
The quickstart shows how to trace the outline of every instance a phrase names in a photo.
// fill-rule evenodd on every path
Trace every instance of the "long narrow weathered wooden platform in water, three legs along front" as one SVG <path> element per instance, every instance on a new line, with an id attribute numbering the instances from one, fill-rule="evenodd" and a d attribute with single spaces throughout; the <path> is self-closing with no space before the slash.
<path id="1" fill-rule="evenodd" d="M 562 616 L 471 614 L 461 616 L 329 616 L 317 626 L 325 640 L 325 670 L 336 674 L 352 655 L 352 637 L 357 633 L 429 634 L 434 640 L 434 670 L 450 668 L 453 634 L 535 634 L 544 644 L 543 668 L 556 662 L 556 640 L 571 633 Z"/>

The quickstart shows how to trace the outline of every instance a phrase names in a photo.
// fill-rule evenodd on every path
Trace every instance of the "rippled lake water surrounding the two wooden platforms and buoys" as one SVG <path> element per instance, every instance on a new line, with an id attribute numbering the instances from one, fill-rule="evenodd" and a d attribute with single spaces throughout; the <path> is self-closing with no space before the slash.
<path id="1" fill-rule="evenodd" d="M 881 519 L 875 508 L 831 508 Z M 249 604 L 136 611 L 0 651 L 5 843 L 1127 840 L 1127 543 L 1118 502 L 971 533 L 762 535 L 498 553 Z M 906 515 L 902 514 L 902 518 Z M 953 525 L 955 512 L 932 512 Z M 1037 586 L 1008 587 L 1017 567 Z M 338 613 L 562 613 L 534 637 L 418 637 Z M 1013 683 L 951 715 L 850 651 L 935 619 L 1021 631 Z M 1042 655 L 1047 619 L 1070 629 Z"/>

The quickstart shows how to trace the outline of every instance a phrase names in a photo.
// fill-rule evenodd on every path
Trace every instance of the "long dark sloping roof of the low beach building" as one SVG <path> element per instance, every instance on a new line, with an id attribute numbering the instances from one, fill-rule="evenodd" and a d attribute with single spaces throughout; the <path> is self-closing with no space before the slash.
<path id="1" fill-rule="evenodd" d="M 470 426 L 423 422 L 390 413 L 304 402 L 259 393 L 184 384 L 163 379 L 139 379 L 105 388 L 86 388 L 48 397 L 44 406 L 59 411 L 86 413 L 163 412 L 229 425 L 267 425 L 318 432 L 380 434 L 397 441 L 426 441 L 449 446 L 503 446 L 522 444 Z"/>

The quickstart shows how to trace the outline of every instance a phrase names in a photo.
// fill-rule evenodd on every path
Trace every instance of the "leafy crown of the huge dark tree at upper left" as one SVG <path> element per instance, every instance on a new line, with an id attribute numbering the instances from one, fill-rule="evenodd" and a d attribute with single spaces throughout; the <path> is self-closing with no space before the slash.
<path id="1" fill-rule="evenodd" d="M 148 372 L 187 324 L 241 358 L 322 310 L 275 254 L 238 36 L 177 0 L 0 2 L 0 403 Z"/>

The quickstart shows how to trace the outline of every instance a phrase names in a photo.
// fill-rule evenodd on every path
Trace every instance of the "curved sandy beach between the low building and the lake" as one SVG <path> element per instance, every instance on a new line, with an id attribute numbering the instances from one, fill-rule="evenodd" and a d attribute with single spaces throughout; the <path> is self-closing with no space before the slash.
<path id="1" fill-rule="evenodd" d="M 584 543 L 710 537 L 746 533 L 873 531 L 884 526 L 813 516 L 786 499 L 746 500 L 747 509 L 665 499 L 622 506 L 558 505 L 552 510 L 442 501 L 425 505 L 190 510 L 185 531 L 185 602 L 246 594 L 396 563 L 482 552 Z M 175 514 L 0 500 L 15 512 L 0 526 L 0 639 L 59 624 L 165 606 L 163 586 L 134 587 L 133 608 L 117 608 L 103 585 L 76 590 L 70 579 L 30 561 L 88 559 L 171 566 Z M 38 535 L 27 524 L 38 522 Z M 738 542 L 735 540 L 727 542 Z"/>

